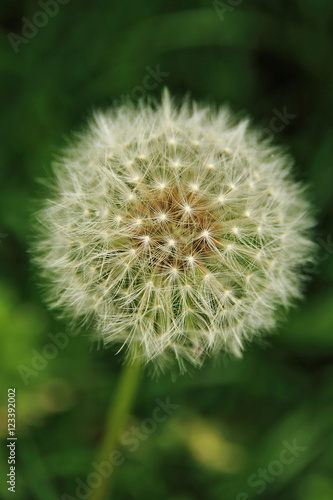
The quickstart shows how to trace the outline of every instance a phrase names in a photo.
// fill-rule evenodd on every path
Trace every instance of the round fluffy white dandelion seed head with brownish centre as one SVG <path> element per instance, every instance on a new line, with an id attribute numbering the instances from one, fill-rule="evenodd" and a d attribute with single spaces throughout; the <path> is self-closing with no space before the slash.
<path id="1" fill-rule="evenodd" d="M 300 296 L 312 256 L 291 167 L 248 121 L 167 91 L 97 113 L 39 214 L 50 305 L 156 366 L 239 356 Z"/>

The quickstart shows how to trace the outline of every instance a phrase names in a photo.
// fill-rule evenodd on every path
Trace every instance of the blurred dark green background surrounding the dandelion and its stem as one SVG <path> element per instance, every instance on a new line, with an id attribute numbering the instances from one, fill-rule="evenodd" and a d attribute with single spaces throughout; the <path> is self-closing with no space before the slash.
<path id="1" fill-rule="evenodd" d="M 168 86 L 246 111 L 286 146 L 317 207 L 318 266 L 278 335 L 243 359 L 143 379 L 127 426 L 141 429 L 138 446 L 120 448 L 113 498 L 331 500 L 332 2 L 9 0 L 0 23 L 0 432 L 16 387 L 18 436 L 17 491 L 7 491 L 3 441 L 0 497 L 89 498 L 77 481 L 94 470 L 121 369 L 43 305 L 28 254 L 40 179 L 93 109 Z M 57 348 L 60 333 L 68 342 Z M 156 398 L 178 407 L 148 432 Z M 283 464 L 288 446 L 294 460 Z"/>

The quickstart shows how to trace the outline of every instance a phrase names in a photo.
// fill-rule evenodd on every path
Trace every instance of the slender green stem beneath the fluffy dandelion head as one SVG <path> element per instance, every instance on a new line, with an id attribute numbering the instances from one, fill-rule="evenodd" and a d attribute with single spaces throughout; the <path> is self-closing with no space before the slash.
<path id="1" fill-rule="evenodd" d="M 124 365 L 122 369 L 116 393 L 108 410 L 106 432 L 96 459 L 98 464 L 108 461 L 110 454 L 117 449 L 138 387 L 141 367 L 141 363 L 136 361 Z M 106 500 L 113 474 L 114 472 L 111 472 L 105 478 L 101 476 L 101 484 L 94 488 L 89 500 Z"/>

